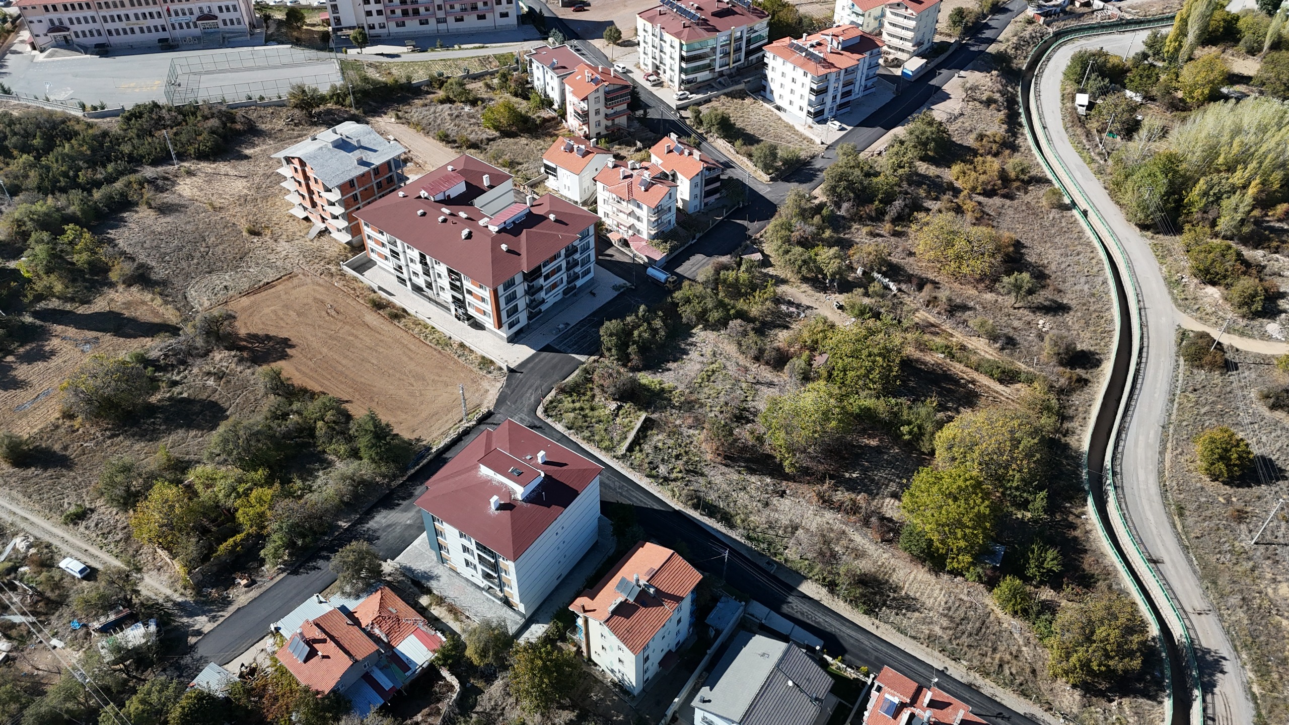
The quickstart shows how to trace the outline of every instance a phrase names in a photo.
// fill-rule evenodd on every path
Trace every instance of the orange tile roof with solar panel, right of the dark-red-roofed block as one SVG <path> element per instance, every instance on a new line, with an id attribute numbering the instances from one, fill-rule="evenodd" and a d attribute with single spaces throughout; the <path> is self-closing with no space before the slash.
<path id="1" fill-rule="evenodd" d="M 621 579 L 634 582 L 635 577 L 647 586 L 634 600 L 625 599 L 616 587 Z M 681 555 L 639 542 L 598 584 L 572 600 L 568 609 L 603 622 L 632 654 L 639 654 L 700 581 L 703 574 Z"/>

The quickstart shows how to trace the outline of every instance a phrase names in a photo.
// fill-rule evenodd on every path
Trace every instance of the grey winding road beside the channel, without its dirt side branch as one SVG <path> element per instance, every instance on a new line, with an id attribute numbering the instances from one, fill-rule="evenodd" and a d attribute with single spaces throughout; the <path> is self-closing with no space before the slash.
<path id="1" fill-rule="evenodd" d="M 1179 321 L 1168 285 L 1148 243 L 1129 223 L 1119 206 L 1070 143 L 1061 119 L 1061 74 L 1070 57 L 1080 48 L 1105 48 L 1123 54 L 1129 43 L 1141 48 L 1145 32 L 1118 36 L 1096 36 L 1061 45 L 1051 57 L 1034 88 L 1048 138 L 1052 139 L 1065 166 L 1075 177 L 1092 205 L 1111 226 L 1123 244 L 1137 288 L 1141 292 L 1139 313 L 1143 320 L 1143 355 L 1138 365 L 1138 388 L 1129 412 L 1128 441 L 1116 470 L 1124 492 L 1127 513 L 1134 533 L 1156 570 L 1167 582 L 1174 601 L 1183 608 L 1191 624 L 1200 681 L 1205 694 L 1208 722 L 1248 725 L 1254 721 L 1253 703 L 1239 653 L 1213 614 L 1204 588 L 1173 530 L 1172 516 L 1160 488 L 1159 452 L 1163 424 L 1168 418 L 1176 329 Z"/>

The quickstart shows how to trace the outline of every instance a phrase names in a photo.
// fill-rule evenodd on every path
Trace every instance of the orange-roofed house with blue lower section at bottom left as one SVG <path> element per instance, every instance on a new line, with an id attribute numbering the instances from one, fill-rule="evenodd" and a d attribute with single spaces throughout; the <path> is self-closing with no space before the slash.
<path id="1" fill-rule="evenodd" d="M 304 619 L 277 660 L 299 682 L 320 694 L 344 694 L 353 712 L 366 717 L 420 675 L 443 644 L 388 587 L 380 587 L 349 611 L 333 606 Z"/>

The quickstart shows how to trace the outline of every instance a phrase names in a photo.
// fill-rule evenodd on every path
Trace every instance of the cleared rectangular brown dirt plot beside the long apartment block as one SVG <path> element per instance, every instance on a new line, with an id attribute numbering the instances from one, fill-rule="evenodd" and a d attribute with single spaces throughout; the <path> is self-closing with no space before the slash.
<path id="1" fill-rule="evenodd" d="M 354 413 L 371 408 L 409 437 L 434 440 L 460 419 L 459 383 L 472 410 L 491 404 L 500 386 L 307 272 L 228 307 L 254 362 L 280 365 Z"/>

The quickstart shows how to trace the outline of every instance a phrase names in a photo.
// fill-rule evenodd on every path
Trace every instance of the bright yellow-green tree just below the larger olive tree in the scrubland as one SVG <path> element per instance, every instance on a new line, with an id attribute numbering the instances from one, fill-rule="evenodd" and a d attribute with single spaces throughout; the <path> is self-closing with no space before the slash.
<path id="1" fill-rule="evenodd" d="M 945 557 L 950 571 L 969 571 L 981 547 L 994 535 L 993 492 L 969 466 L 918 470 L 900 507 Z"/>

